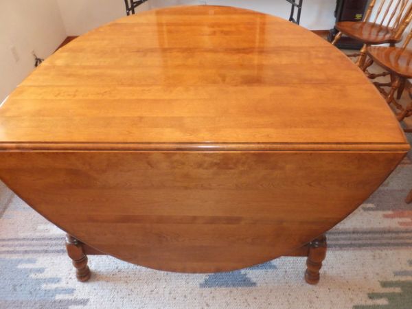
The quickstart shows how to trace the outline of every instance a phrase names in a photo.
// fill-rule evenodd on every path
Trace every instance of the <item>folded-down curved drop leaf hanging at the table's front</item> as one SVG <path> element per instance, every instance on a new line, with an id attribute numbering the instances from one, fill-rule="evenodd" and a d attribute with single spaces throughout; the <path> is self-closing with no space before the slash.
<path id="1" fill-rule="evenodd" d="M 214 272 L 284 255 L 350 214 L 404 152 L 1 152 L 3 181 L 104 253 Z"/>

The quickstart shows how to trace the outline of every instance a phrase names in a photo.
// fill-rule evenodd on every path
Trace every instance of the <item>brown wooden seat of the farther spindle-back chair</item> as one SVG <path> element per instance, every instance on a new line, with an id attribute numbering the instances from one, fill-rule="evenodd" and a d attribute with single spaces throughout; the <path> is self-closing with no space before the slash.
<path id="1" fill-rule="evenodd" d="M 378 45 L 383 43 L 396 43 L 395 34 L 389 27 L 376 23 L 363 23 L 360 21 L 341 21 L 336 23 L 336 29 L 358 41 L 368 45 Z"/>

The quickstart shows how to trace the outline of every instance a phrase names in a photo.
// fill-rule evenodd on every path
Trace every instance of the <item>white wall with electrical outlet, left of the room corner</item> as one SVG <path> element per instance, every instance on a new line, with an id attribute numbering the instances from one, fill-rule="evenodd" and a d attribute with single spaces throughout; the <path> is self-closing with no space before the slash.
<path id="1" fill-rule="evenodd" d="M 46 58 L 66 36 L 55 0 L 0 0 L 0 102 L 34 69 L 32 50 Z"/>

